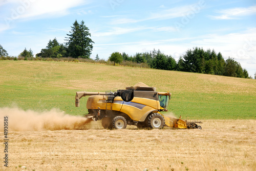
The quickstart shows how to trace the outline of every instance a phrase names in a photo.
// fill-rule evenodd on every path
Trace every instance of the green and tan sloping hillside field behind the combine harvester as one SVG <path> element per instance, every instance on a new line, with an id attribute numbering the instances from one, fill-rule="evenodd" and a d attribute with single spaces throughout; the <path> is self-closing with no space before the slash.
<path id="1" fill-rule="evenodd" d="M 116 91 L 143 82 L 169 91 L 169 112 L 188 119 L 256 119 L 256 80 L 189 72 L 46 61 L 0 61 L 0 107 L 87 113 L 76 91 Z M 164 114 L 164 113 L 163 113 Z"/>

